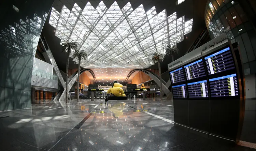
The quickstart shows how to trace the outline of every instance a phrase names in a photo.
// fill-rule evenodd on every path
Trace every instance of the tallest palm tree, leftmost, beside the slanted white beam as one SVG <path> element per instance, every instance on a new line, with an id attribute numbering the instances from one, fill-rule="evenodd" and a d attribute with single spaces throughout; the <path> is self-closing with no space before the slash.
<path id="1" fill-rule="evenodd" d="M 68 103 L 68 77 L 69 77 L 69 56 L 71 49 L 77 50 L 77 43 L 72 41 L 66 40 L 62 44 L 62 52 L 67 52 L 68 53 L 68 59 L 67 59 L 67 64 L 66 64 L 66 103 Z"/>

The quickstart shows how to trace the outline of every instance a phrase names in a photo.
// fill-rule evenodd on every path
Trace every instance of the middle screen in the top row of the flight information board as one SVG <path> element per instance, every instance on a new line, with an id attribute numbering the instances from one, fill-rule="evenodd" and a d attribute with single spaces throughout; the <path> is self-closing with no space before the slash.
<path id="1" fill-rule="evenodd" d="M 185 65 L 184 69 L 187 80 L 206 76 L 202 59 Z"/>

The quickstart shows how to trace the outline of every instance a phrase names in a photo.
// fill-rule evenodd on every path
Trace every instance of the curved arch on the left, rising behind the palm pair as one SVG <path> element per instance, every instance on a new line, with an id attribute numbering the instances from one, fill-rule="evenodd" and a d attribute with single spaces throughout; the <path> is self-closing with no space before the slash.
<path id="1" fill-rule="evenodd" d="M 97 83 L 94 72 L 91 69 L 82 69 L 80 71 L 80 74 L 82 74 L 85 71 L 89 71 L 91 73 L 91 75 L 93 76 L 93 78 L 94 78 L 94 82 Z M 76 80 L 77 80 L 77 71 L 75 73 L 73 73 L 68 79 L 68 91 L 70 91 L 70 89 L 72 88 L 72 86 L 74 85 Z M 62 94 L 59 98 L 59 101 L 62 100 L 62 99 L 66 99 L 65 91 L 66 91 L 66 89 L 64 89 L 64 91 L 62 92 Z"/>

